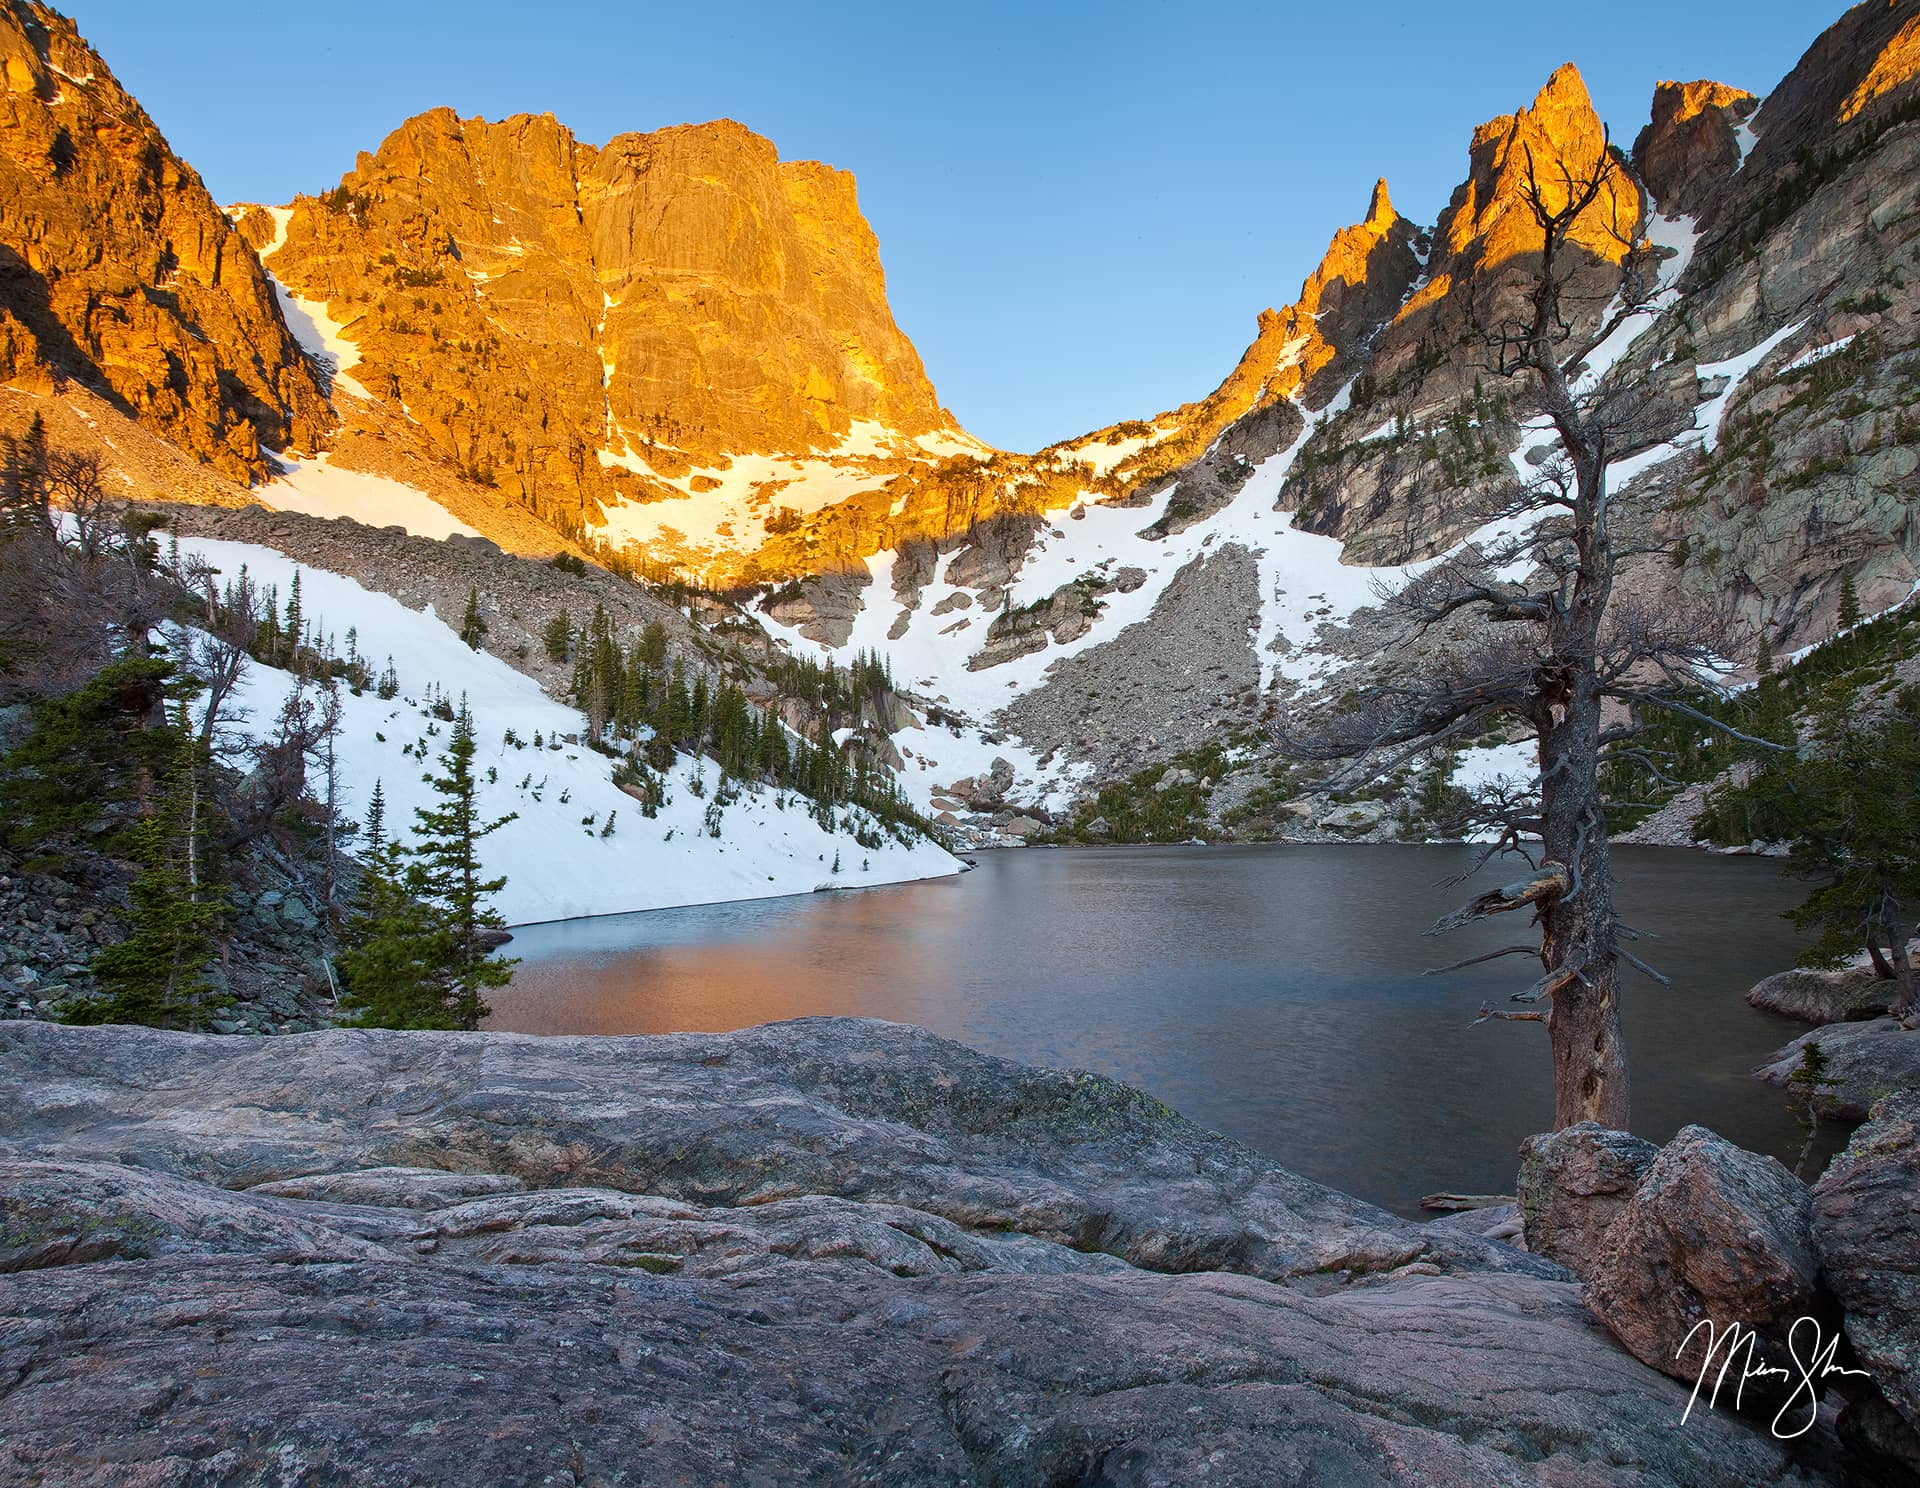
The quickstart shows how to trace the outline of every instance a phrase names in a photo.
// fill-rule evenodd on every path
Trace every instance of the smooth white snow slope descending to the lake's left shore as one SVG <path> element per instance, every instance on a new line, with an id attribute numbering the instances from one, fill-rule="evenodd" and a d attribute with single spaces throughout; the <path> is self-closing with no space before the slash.
<path id="1" fill-rule="evenodd" d="M 484 843 L 488 874 L 507 876 L 497 906 L 511 924 L 960 872 L 935 843 L 900 847 L 887 839 L 879 849 L 864 849 L 849 831 L 824 831 L 806 814 L 806 801 L 783 797 L 781 804 L 770 789 L 741 789 L 722 810 L 720 835 L 708 835 L 714 766 L 685 756 L 668 772 L 668 801 L 649 820 L 637 801 L 612 785 L 609 758 L 563 743 L 584 733 L 580 712 L 555 703 L 497 657 L 468 651 L 432 611 L 409 611 L 397 599 L 340 574 L 298 566 L 267 547 L 182 540 L 180 549 L 225 576 L 244 564 L 255 582 L 278 586 L 280 593 L 298 568 L 315 634 L 330 636 L 344 653 L 351 628 L 376 668 L 394 659 L 397 697 L 342 695 L 346 814 L 361 816 L 374 781 L 382 781 L 390 826 L 411 824 L 413 808 L 432 795 L 424 776 L 438 768 L 449 732 L 449 724 L 432 716 L 428 689 L 438 687 L 455 705 L 467 697 L 480 745 L 474 760 L 482 774 L 480 804 L 490 816 L 518 812 L 518 820 Z M 288 672 L 252 664 L 240 695 L 242 730 L 265 735 L 292 687 Z M 518 747 L 507 741 L 509 733 Z M 536 735 L 543 741 L 538 751 Z M 695 783 L 703 793 L 695 793 Z M 614 831 L 603 837 L 609 814 Z"/>

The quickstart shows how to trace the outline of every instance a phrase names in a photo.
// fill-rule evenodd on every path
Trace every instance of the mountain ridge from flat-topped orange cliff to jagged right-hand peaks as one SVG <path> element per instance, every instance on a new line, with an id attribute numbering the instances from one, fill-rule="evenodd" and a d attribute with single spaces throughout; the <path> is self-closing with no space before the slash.
<path id="1" fill-rule="evenodd" d="M 1885 605 L 1920 553 L 1916 15 L 1857 6 L 1764 100 L 1659 83 L 1632 150 L 1567 63 L 1473 131 L 1436 223 L 1377 182 L 1210 394 L 1033 453 L 939 405 L 849 175 L 732 123 L 584 146 L 430 111 L 323 196 L 238 211 L 338 419 L 250 474 L 319 515 L 348 513 L 326 470 L 397 482 L 513 551 L 726 588 L 774 647 L 885 651 L 1058 803 L 1188 732 L 1198 684 L 1117 697 L 1129 657 L 1219 682 L 1198 728 L 1256 732 L 1379 664 L 1371 586 L 1482 534 L 1549 445 L 1484 344 L 1528 273 L 1528 159 L 1609 152 L 1569 300 L 1584 378 L 1647 392 L 1615 480 L 1670 557 L 1632 584 L 1795 649 L 1841 570 Z M 1649 311 L 1605 301 L 1622 263 Z"/>

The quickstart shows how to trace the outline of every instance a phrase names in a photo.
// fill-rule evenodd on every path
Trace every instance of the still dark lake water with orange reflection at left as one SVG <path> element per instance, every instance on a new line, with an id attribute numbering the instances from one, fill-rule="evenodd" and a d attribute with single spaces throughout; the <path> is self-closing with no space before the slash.
<path id="1" fill-rule="evenodd" d="M 979 854 L 952 879 L 530 925 L 488 1027 L 722 1031 L 808 1014 L 920 1023 L 1027 1064 L 1114 1075 L 1284 1167 L 1402 1213 L 1513 1192 L 1553 1114 L 1546 1029 L 1471 1027 L 1538 975 L 1523 916 L 1427 939 L 1473 885 L 1463 847 L 1140 847 Z M 1619 849 L 1622 918 L 1672 977 L 1622 977 L 1634 1131 L 1713 1127 L 1789 1165 L 1801 1131 L 1749 1077 L 1803 1031 L 1741 995 L 1793 962 L 1774 864 Z"/>

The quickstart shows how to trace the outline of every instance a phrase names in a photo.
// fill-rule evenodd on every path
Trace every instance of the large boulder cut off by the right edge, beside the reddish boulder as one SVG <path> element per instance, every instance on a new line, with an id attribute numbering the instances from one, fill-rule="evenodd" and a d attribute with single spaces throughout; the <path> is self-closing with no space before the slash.
<path id="1" fill-rule="evenodd" d="M 1812 1190 L 1812 1238 L 1847 1338 L 1920 1430 L 1920 1091 L 1874 1106 Z"/>

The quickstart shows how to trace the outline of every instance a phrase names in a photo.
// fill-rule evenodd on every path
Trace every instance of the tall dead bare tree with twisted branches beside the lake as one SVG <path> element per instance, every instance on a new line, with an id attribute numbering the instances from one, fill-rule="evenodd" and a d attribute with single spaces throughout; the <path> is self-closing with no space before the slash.
<path id="1" fill-rule="evenodd" d="M 1594 376 L 1588 361 L 1651 303 L 1645 253 L 1634 240 L 1640 190 L 1605 142 L 1588 165 L 1561 157 L 1546 171 L 1528 150 L 1524 177 L 1521 200 L 1540 234 L 1538 259 L 1523 265 L 1519 280 L 1488 275 L 1475 323 L 1488 369 L 1526 386 L 1557 451 L 1498 513 L 1500 530 L 1511 536 L 1440 563 L 1388 601 L 1411 632 L 1438 645 L 1427 674 L 1375 687 L 1315 730 L 1284 732 L 1283 747 L 1340 760 L 1323 789 L 1352 789 L 1434 747 L 1494 726 L 1524 726 L 1538 743 L 1538 776 L 1526 799 L 1482 804 L 1480 826 L 1492 843 L 1480 864 L 1513 852 L 1530 872 L 1446 916 L 1434 931 L 1532 912 L 1538 945 L 1457 966 L 1538 954 L 1540 977 L 1515 993 L 1523 1006 L 1482 1008 L 1482 1021 L 1546 1023 L 1555 1125 L 1624 1127 L 1628 1064 L 1617 973 L 1626 964 L 1661 977 L 1622 945 L 1636 931 L 1615 912 L 1601 768 L 1634 756 L 1644 708 L 1690 710 L 1674 693 L 1697 684 L 1697 668 L 1713 660 L 1722 639 L 1697 616 L 1615 601 L 1620 563 L 1644 549 L 1619 536 L 1607 467 L 1649 440 L 1636 428 L 1644 409 L 1638 390 Z M 1574 240 L 1590 213 L 1619 240 L 1617 255 L 1592 253 Z M 1607 265 L 1615 271 L 1603 296 L 1611 309 L 1578 313 L 1576 276 L 1607 278 L 1597 273 Z M 1444 636 L 1455 639 L 1446 643 Z"/>

